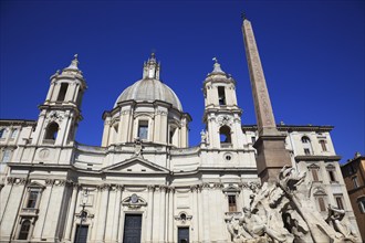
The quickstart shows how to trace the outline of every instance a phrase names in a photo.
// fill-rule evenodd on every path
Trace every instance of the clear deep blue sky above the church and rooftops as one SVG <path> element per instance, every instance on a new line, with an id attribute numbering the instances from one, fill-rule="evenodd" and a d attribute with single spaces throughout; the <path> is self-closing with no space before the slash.
<path id="1" fill-rule="evenodd" d="M 49 77 L 80 56 L 88 89 L 76 139 L 100 145 L 102 114 L 142 77 L 152 50 L 192 116 L 213 56 L 237 81 L 242 124 L 255 124 L 241 34 L 253 25 L 277 123 L 333 125 L 342 161 L 365 154 L 364 1 L 1 1 L 0 118 L 36 119 Z"/>

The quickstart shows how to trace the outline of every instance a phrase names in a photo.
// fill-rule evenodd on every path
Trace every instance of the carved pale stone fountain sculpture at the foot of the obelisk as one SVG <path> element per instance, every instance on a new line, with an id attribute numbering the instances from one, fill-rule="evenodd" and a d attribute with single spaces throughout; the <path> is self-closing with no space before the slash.
<path id="1" fill-rule="evenodd" d="M 305 177 L 284 166 L 275 183 L 253 187 L 243 215 L 226 219 L 232 242 L 361 242 L 344 210 L 328 205 L 326 220 L 315 210 Z"/>

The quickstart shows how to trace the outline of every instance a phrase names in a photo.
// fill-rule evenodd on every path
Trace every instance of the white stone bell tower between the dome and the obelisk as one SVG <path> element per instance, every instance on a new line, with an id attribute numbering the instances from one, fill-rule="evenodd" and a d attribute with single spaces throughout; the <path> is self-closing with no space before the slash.
<path id="1" fill-rule="evenodd" d="M 208 148 L 242 148 L 242 110 L 237 105 L 236 81 L 226 74 L 213 59 L 213 71 L 204 82 Z"/>

